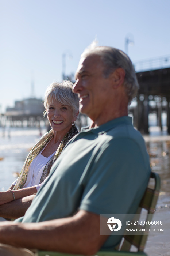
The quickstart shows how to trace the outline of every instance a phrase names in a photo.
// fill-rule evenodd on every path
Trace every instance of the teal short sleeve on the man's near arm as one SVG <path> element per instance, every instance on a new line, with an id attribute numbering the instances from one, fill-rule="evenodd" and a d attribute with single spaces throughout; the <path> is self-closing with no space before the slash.
<path id="1" fill-rule="evenodd" d="M 128 138 L 113 139 L 105 145 L 92 165 L 80 209 L 96 214 L 136 211 L 150 176 L 146 155 Z"/>

